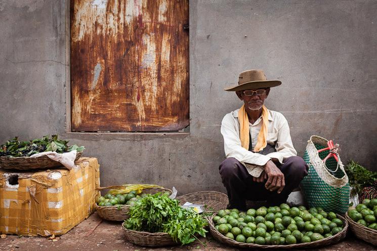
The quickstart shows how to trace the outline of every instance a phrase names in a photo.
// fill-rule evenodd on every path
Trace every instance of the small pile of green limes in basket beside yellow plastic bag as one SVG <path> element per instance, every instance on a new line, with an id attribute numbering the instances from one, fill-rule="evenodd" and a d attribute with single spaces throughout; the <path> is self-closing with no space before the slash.
<path id="1" fill-rule="evenodd" d="M 139 199 L 141 199 L 141 196 L 136 191 L 115 195 L 107 193 L 97 199 L 97 205 L 100 207 L 134 205 Z"/>

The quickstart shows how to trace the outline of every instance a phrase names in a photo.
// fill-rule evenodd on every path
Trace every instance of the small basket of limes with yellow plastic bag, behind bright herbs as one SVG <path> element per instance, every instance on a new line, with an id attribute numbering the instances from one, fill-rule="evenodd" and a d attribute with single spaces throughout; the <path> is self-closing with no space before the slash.
<path id="1" fill-rule="evenodd" d="M 163 187 L 147 187 L 134 190 L 129 187 L 128 192 L 106 193 L 104 196 L 97 198 L 96 210 L 98 215 L 108 221 L 123 221 L 130 217 L 130 207 L 139 201 L 146 194 L 166 193 L 172 194 L 172 190 Z M 139 185 L 142 186 L 142 185 Z M 118 188 L 119 186 L 101 187 L 100 189 Z M 127 190 L 125 190 L 127 191 Z"/>

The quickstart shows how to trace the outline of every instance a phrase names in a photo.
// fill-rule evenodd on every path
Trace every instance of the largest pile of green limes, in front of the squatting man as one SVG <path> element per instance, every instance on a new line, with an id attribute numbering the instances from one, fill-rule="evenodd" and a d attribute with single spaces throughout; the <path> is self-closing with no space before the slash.
<path id="1" fill-rule="evenodd" d="M 343 221 L 333 212 L 304 206 L 261 207 L 239 212 L 220 210 L 213 218 L 216 229 L 243 243 L 284 245 L 320 240 L 342 231 Z"/>

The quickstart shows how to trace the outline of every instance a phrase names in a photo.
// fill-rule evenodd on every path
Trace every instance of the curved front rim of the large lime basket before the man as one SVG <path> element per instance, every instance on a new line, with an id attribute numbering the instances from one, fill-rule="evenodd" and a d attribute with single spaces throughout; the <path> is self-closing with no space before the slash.
<path id="1" fill-rule="evenodd" d="M 305 243 L 298 243 L 298 244 L 287 244 L 287 245 L 259 245 L 259 244 L 255 244 L 255 243 L 240 243 L 240 242 L 237 242 L 236 240 L 233 240 L 233 239 L 230 239 L 228 237 L 226 237 L 225 235 L 221 234 L 214 226 L 213 224 L 213 218 L 216 216 L 217 214 L 213 214 L 210 218 L 207 218 L 208 220 L 208 225 L 210 225 L 210 231 L 212 233 L 212 231 L 215 231 L 215 232 L 218 232 L 220 235 L 222 235 L 223 239 L 225 239 L 226 241 L 229 241 L 233 244 L 233 246 L 237 246 L 237 247 L 241 247 L 241 248 L 284 248 L 284 249 L 287 249 L 287 248 L 299 248 L 299 247 L 316 247 L 318 246 L 317 244 L 318 243 L 321 243 L 321 242 L 324 242 L 324 245 L 328 245 L 328 244 L 332 244 L 332 243 L 335 243 L 332 241 L 332 239 L 336 239 L 338 237 L 341 237 L 343 234 L 345 235 L 347 230 L 348 230 L 348 222 L 347 220 L 337 214 L 337 217 L 340 217 L 340 219 L 343 221 L 343 223 L 345 224 L 344 228 L 342 229 L 342 231 L 340 231 L 339 233 L 337 233 L 336 235 L 333 235 L 331 237 L 327 237 L 327 238 L 323 238 L 321 240 L 316 240 L 316 241 L 311 241 L 311 242 L 305 242 Z M 330 240 L 330 241 L 329 241 Z M 329 241 L 329 242 L 328 242 Z M 328 243 L 327 243 L 328 242 Z M 338 242 L 338 241 L 337 241 Z M 229 243 L 226 243 L 228 245 L 231 245 Z"/>

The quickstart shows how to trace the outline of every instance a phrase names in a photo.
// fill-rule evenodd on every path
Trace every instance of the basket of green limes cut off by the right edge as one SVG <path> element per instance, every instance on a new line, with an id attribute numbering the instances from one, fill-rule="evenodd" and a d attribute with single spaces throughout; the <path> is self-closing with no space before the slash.
<path id="1" fill-rule="evenodd" d="M 377 245 L 377 198 L 364 199 L 356 208 L 350 208 L 346 219 L 352 232 L 360 239 Z"/>

